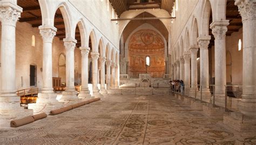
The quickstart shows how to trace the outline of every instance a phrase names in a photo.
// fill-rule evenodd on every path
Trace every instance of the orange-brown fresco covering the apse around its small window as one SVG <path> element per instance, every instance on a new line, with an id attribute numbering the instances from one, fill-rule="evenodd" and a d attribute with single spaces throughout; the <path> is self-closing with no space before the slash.
<path id="1" fill-rule="evenodd" d="M 137 78 L 139 74 L 150 73 L 152 77 L 163 77 L 165 73 L 164 40 L 153 30 L 139 30 L 129 42 L 129 75 Z M 150 66 L 146 67 L 146 56 Z"/>

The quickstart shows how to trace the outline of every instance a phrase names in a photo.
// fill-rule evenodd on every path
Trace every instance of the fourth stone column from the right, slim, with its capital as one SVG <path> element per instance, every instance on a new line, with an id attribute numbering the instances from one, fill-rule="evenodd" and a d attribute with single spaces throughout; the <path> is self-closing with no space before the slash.
<path id="1" fill-rule="evenodd" d="M 190 48 L 191 53 L 191 97 L 194 97 L 195 90 L 197 89 L 197 52 L 198 46 Z"/>

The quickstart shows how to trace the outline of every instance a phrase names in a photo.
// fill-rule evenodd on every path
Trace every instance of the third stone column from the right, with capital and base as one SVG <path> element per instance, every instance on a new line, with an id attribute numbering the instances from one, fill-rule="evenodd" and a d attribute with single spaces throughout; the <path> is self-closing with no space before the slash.
<path id="1" fill-rule="evenodd" d="M 209 89 L 209 57 L 208 45 L 211 36 L 199 37 L 197 39 L 200 48 L 200 89 L 202 89 L 202 98 L 206 102 L 210 102 L 211 92 Z"/>

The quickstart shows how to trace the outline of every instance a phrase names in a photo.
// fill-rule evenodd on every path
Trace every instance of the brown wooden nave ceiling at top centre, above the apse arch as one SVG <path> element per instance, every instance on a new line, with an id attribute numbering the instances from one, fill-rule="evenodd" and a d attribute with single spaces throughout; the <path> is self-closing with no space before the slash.
<path id="1" fill-rule="evenodd" d="M 109 0 L 111 5 L 113 6 L 114 11 L 116 11 L 118 17 L 121 14 L 128 10 L 136 10 L 136 9 L 164 9 L 167 12 L 172 12 L 172 7 L 174 5 L 175 0 L 152 0 L 153 2 L 148 3 L 148 0 L 140 0 L 144 1 L 143 3 L 134 3 L 136 0 Z M 137 5 L 137 6 L 136 6 Z M 149 5 L 149 6 L 146 6 Z"/>

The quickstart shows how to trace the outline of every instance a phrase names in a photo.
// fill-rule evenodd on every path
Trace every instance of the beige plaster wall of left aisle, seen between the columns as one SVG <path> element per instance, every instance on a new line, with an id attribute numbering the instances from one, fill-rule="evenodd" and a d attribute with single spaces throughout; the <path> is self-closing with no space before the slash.
<path id="1" fill-rule="evenodd" d="M 1 30 L 1 26 L 0 26 Z M 1 37 L 0 33 L 0 37 Z M 32 35 L 35 35 L 36 45 L 31 46 Z M 1 41 L 0 41 L 1 45 Z M 52 42 L 52 76 L 58 75 L 59 55 L 65 54 L 63 41 L 55 37 Z M 0 55 L 1 56 L 1 55 Z M 78 76 L 81 74 L 81 55 L 78 48 L 75 49 L 75 82 L 78 82 Z M 39 34 L 38 28 L 31 27 L 28 23 L 17 23 L 16 26 L 16 90 L 30 88 L 30 65 L 36 66 L 37 87 L 43 85 L 43 40 Z M 23 79 L 23 81 L 22 81 Z"/>

